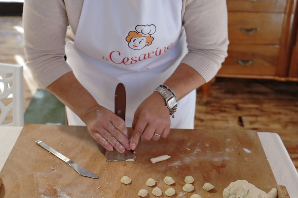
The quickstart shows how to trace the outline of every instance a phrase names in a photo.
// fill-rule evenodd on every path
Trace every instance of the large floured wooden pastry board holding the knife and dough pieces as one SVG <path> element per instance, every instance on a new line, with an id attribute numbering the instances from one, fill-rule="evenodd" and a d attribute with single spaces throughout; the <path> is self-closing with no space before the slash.
<path id="1" fill-rule="evenodd" d="M 80 176 L 39 147 L 35 143 L 38 139 L 98 174 L 99 179 Z M 171 158 L 150 162 L 150 158 L 160 155 Z M 124 175 L 131 178 L 129 185 L 120 182 Z M 195 179 L 195 189 L 190 193 L 182 190 L 187 175 Z M 175 183 L 166 185 L 165 176 L 172 177 Z M 247 180 L 265 192 L 278 188 L 255 131 L 171 129 L 166 139 L 140 143 L 136 161 L 106 162 L 105 150 L 85 126 L 26 124 L 0 177 L 3 180 L 0 198 L 128 198 L 138 197 L 141 188 L 149 191 L 146 198 L 155 197 L 151 193 L 153 187 L 146 186 L 148 178 L 157 181 L 156 186 L 163 191 L 160 197 L 167 197 L 165 190 L 173 187 L 176 194 L 172 197 L 188 198 L 197 193 L 203 198 L 221 198 L 224 188 L 236 180 Z M 204 191 L 205 182 L 215 188 Z"/>

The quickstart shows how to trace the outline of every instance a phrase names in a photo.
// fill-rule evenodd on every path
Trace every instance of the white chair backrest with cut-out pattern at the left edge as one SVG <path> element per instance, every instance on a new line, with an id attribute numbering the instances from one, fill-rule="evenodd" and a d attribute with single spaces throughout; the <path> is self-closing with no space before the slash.
<path id="1" fill-rule="evenodd" d="M 23 66 L 0 63 L 0 125 L 24 125 L 23 101 Z M 11 111 L 9 122 L 7 115 Z"/>

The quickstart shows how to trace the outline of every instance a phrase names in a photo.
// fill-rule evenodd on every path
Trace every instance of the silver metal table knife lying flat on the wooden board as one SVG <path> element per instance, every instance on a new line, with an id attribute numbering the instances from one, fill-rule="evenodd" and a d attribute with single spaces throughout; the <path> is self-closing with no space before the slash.
<path id="1" fill-rule="evenodd" d="M 47 145 L 46 143 L 44 143 L 40 139 L 39 140 L 36 140 L 35 143 L 37 143 L 39 146 L 43 147 L 48 152 L 52 153 L 53 155 L 55 155 L 56 157 L 58 157 L 62 161 L 66 162 L 73 169 L 75 169 L 75 171 L 77 171 L 80 175 L 85 176 L 85 177 L 94 178 L 94 179 L 99 178 L 97 174 L 94 174 L 91 171 L 85 169 L 84 167 L 78 165 L 74 161 L 71 161 L 69 158 L 67 158 L 66 156 L 62 155 L 60 152 L 56 151 L 55 149 L 53 149 L 52 147 L 50 147 L 49 145 Z"/>

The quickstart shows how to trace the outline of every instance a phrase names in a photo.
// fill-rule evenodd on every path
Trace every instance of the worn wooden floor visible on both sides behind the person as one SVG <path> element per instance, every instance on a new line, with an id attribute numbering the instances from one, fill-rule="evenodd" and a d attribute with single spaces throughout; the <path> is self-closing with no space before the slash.
<path id="1" fill-rule="evenodd" d="M 0 17 L 0 24 L 0 62 L 24 66 L 25 110 L 41 86 L 24 63 L 22 20 Z M 206 104 L 200 105 L 200 99 L 198 91 L 196 128 L 276 132 L 298 170 L 297 82 L 217 78 Z"/>

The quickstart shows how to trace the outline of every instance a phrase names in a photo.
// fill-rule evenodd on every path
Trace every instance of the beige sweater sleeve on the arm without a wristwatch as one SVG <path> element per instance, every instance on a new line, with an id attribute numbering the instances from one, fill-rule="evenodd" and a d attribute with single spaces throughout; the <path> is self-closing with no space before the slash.
<path id="1" fill-rule="evenodd" d="M 68 25 L 63 0 L 26 0 L 24 50 L 35 79 L 46 88 L 71 68 L 64 60 Z"/>

